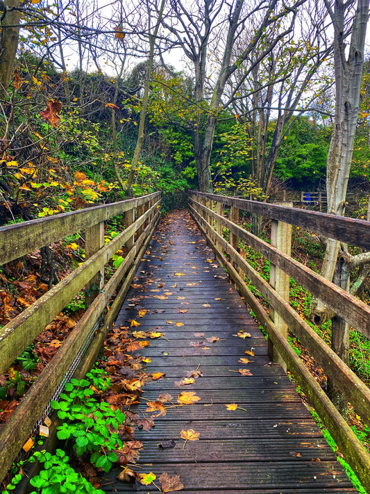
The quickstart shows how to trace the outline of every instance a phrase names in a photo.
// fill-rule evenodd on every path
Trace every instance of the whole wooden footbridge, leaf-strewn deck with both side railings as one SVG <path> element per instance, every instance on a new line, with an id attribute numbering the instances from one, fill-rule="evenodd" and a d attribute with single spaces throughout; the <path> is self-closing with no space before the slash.
<path id="1" fill-rule="evenodd" d="M 294 312 L 286 293 L 289 277 L 294 277 L 333 308 L 337 317 L 369 337 L 369 307 L 294 261 L 287 252 L 287 225 L 370 250 L 370 224 L 194 192 L 190 195 L 192 219 L 185 212 L 171 213 L 148 247 L 160 218 L 159 205 L 160 194 L 155 193 L 0 229 L 2 263 L 81 230 L 86 232 L 88 258 L 0 330 L 1 372 L 81 288 L 101 283 L 100 292 L 90 295 L 90 307 L 72 334 L 0 429 L 0 477 L 37 421 L 42 423 L 50 400 L 58 398 L 64 383 L 74 372 L 82 375 L 92 366 L 115 319 L 118 327 L 128 327 L 140 311 L 140 330 L 155 329 L 164 336 L 137 353 L 146 356 L 146 373 L 164 373 L 145 386 L 145 402 L 156 404 L 153 415 L 159 415 L 155 427 L 135 431 L 135 439 L 144 443 L 137 468 L 153 472 L 155 484 L 159 486 L 158 477 L 167 473 L 174 479 L 179 476 L 178 488 L 183 485 L 186 492 L 194 494 L 357 492 L 287 377 L 286 365 L 370 491 L 369 454 L 286 337 L 289 325 L 370 425 L 369 389 Z M 271 245 L 239 226 L 240 211 L 271 218 Z M 104 220 L 121 213 L 125 213 L 125 231 L 103 246 Z M 244 259 L 238 239 L 270 261 L 270 283 Z M 103 286 L 97 275 L 122 245 L 128 247 L 128 254 Z M 245 277 L 268 300 L 269 315 L 247 288 Z M 110 302 L 117 288 L 119 293 Z M 268 343 L 246 303 L 267 331 Z M 108 304 L 110 311 L 102 320 Z M 145 402 L 131 410 L 148 417 Z M 117 470 L 104 476 L 104 491 L 132 492 L 129 484 L 115 477 Z M 158 492 L 153 484 L 135 484 L 135 489 Z M 163 487 L 162 491 L 171 492 Z"/>

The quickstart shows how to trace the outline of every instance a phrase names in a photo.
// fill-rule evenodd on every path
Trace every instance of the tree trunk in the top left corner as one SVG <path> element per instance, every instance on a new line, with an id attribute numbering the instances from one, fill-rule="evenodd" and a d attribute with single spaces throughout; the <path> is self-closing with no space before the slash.
<path id="1" fill-rule="evenodd" d="M 6 90 L 12 80 L 19 40 L 19 0 L 5 0 L 0 21 L 0 101 L 6 101 Z M 16 27 L 8 27 L 16 26 Z"/>

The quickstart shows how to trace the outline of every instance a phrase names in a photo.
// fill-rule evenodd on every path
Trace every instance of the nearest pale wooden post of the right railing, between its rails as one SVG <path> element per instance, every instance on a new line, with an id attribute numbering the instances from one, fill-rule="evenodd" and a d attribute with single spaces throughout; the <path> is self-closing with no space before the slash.
<path id="1" fill-rule="evenodd" d="M 280 206 L 292 207 L 292 202 L 279 203 Z M 271 245 L 276 247 L 284 254 L 290 256 L 292 251 L 292 225 L 284 222 L 271 220 Z M 289 301 L 289 275 L 280 270 L 276 265 L 270 265 L 270 285 L 276 290 L 280 297 Z M 286 339 L 288 338 L 288 327 L 280 315 L 270 308 L 271 320 L 274 321 L 276 329 Z M 287 370 L 287 365 L 280 357 L 271 340 L 268 341 L 268 352 L 272 362 L 280 364 L 283 369 Z"/>

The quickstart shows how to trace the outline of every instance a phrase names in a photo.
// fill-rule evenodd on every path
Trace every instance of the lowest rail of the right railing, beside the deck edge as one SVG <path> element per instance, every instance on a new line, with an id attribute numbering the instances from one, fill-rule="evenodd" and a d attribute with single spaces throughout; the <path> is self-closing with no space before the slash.
<path id="1" fill-rule="evenodd" d="M 194 218 L 196 219 L 203 234 L 205 229 L 203 228 L 203 218 L 199 213 L 195 211 Z M 208 242 L 216 249 L 216 246 L 212 244 L 212 240 L 208 236 Z M 217 252 L 217 251 L 216 251 Z M 219 253 L 217 252 L 218 256 Z M 230 277 L 237 283 L 237 286 L 245 297 L 251 309 L 255 313 L 256 317 L 260 321 L 260 324 L 267 331 L 269 338 L 273 340 L 274 345 L 278 349 L 279 354 L 287 362 L 287 367 L 292 372 L 294 379 L 302 386 L 305 395 L 314 409 L 319 413 L 321 420 L 328 428 L 328 431 L 333 436 L 335 442 L 339 446 L 346 458 L 346 461 L 351 465 L 351 468 L 355 471 L 356 475 L 360 478 L 364 488 L 369 490 L 370 488 L 370 455 L 367 450 L 364 449 L 358 438 L 353 433 L 352 429 L 348 426 L 342 415 L 337 411 L 335 406 L 330 402 L 326 393 L 323 392 L 317 381 L 315 381 L 312 374 L 305 367 L 304 363 L 294 352 L 294 349 L 289 345 L 287 340 L 283 338 L 278 331 L 276 331 L 274 322 L 269 319 L 269 316 L 264 311 L 264 308 L 258 302 L 258 300 L 251 293 L 249 288 L 246 287 L 244 280 L 239 277 L 237 270 L 228 261 L 224 261 Z"/>

